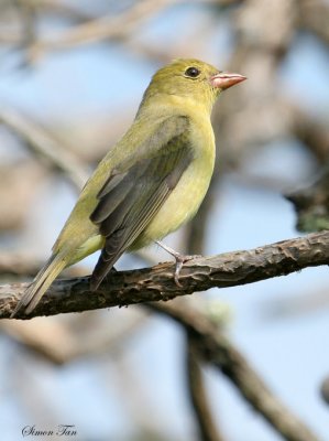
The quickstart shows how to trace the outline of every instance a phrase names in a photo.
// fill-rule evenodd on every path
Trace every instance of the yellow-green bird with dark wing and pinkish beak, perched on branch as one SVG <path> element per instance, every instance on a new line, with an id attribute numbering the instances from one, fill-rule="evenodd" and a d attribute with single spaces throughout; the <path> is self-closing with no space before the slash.
<path id="1" fill-rule="evenodd" d="M 244 79 L 198 60 L 175 60 L 155 73 L 132 126 L 86 183 L 12 316 L 31 313 L 64 268 L 101 248 L 96 290 L 125 250 L 163 238 L 196 214 L 215 164 L 212 105 Z"/>

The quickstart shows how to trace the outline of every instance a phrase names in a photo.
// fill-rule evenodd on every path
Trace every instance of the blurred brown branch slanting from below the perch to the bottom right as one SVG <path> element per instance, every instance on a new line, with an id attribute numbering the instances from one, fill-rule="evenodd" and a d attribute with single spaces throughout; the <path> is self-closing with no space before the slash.
<path id="1" fill-rule="evenodd" d="M 152 310 L 169 316 L 193 335 L 194 347 L 208 363 L 220 369 L 237 387 L 240 394 L 265 420 L 287 441 L 318 441 L 304 423 L 295 417 L 267 388 L 243 355 L 209 320 L 188 305 L 153 303 Z"/>

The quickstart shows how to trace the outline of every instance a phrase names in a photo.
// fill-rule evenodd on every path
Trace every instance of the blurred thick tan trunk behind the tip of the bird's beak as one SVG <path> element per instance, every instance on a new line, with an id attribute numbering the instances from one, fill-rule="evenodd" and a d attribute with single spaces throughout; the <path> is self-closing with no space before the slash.
<path id="1" fill-rule="evenodd" d="M 297 18 L 305 13 L 301 10 L 312 8 L 310 3 L 250 0 L 233 15 L 237 41 L 229 68 L 248 72 L 249 87 L 237 88 L 234 99 L 216 108 L 219 155 L 227 166 L 239 168 L 250 149 L 292 136 L 305 143 L 320 163 L 328 158 L 328 125 L 303 111 L 278 80 L 281 63 L 299 30 Z M 329 6 L 321 2 L 321 7 L 328 14 Z"/>

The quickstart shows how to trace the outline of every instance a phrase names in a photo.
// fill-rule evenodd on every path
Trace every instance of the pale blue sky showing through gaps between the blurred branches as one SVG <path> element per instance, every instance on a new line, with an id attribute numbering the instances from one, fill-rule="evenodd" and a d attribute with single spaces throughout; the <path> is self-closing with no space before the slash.
<path id="1" fill-rule="evenodd" d="M 154 22 L 149 32 L 155 44 L 156 37 L 164 37 L 168 22 L 178 25 L 179 14 L 179 10 L 172 11 L 166 20 Z M 194 23 L 197 14 L 193 9 L 185 20 Z M 229 47 L 224 52 L 224 45 L 229 43 L 222 33 L 218 33 L 217 41 L 227 56 Z M 210 56 L 215 55 L 210 52 Z M 136 108 L 157 67 L 111 44 L 56 53 L 42 60 L 32 72 L 12 71 L 15 57 L 14 53 L 7 54 L 0 68 L 0 100 L 32 112 L 41 121 L 61 119 L 63 111 L 69 120 L 88 112 L 108 111 L 111 117 L 117 106 L 123 108 L 128 103 Z M 316 45 L 310 35 L 300 34 L 283 65 L 283 87 L 314 115 L 323 117 L 329 103 L 328 69 L 329 55 L 325 47 Z M 273 144 L 249 166 L 254 175 L 263 173 L 283 179 L 292 187 L 307 180 L 312 171 L 305 151 L 290 141 Z M 45 195 L 50 190 L 54 197 L 47 202 Z M 54 189 L 52 182 L 40 194 L 46 218 L 40 218 L 41 208 L 36 207 L 29 215 L 28 232 L 34 228 L 41 236 L 37 246 L 45 247 L 46 256 L 76 196 L 67 184 Z M 39 223 L 37 228 L 35 223 Z M 227 175 L 209 220 L 206 252 L 249 249 L 295 237 L 298 234 L 294 225 L 293 207 L 281 194 L 246 185 L 234 174 Z M 22 238 L 25 246 L 35 241 L 35 233 L 33 239 L 28 236 Z M 168 239 L 171 244 L 172 240 L 174 238 Z M 88 262 L 92 265 L 95 258 Z M 130 265 L 129 259 L 122 259 L 119 268 L 125 265 Z M 275 394 L 322 439 L 328 437 L 329 418 L 329 409 L 319 395 L 320 384 L 329 372 L 328 303 L 325 308 L 295 314 L 275 314 L 275 311 L 277 304 L 288 309 L 294 302 L 303 303 L 312 293 L 325 290 L 328 282 L 328 268 L 310 268 L 288 277 L 195 295 L 209 302 L 220 300 L 230 308 L 228 335 Z M 103 311 L 109 319 L 118 314 L 119 320 L 124 313 L 124 310 Z M 24 354 L 22 358 L 21 347 L 2 335 L 0 348 L 6 357 L 0 359 L 0 391 L 6 399 L 0 400 L 0 426 L 4 428 L 3 439 L 20 439 L 18 426 L 24 427 L 31 421 L 42 424 L 42 420 L 34 421 L 35 416 L 29 415 L 26 381 L 35 390 L 34 402 L 41 410 L 50 409 L 54 423 L 74 422 L 84 435 L 81 439 L 101 440 L 110 434 L 111 439 L 120 441 L 134 430 L 127 415 L 132 417 L 142 405 L 146 410 L 140 409 L 141 423 L 152 429 L 152 416 L 150 418 L 147 410 L 152 409 L 168 439 L 193 439 L 195 428 L 184 388 L 184 344 L 176 324 L 160 318 L 147 320 L 130 344 L 128 355 L 119 363 L 133 370 L 129 379 L 133 379 L 140 394 L 132 398 L 129 387 L 122 384 L 118 365 L 109 355 L 59 368 L 41 362 L 33 354 Z M 116 356 L 120 354 L 112 355 Z M 9 375 L 12 369 L 21 377 L 20 385 L 12 383 L 11 378 L 17 378 L 17 375 Z M 228 440 L 279 440 L 222 375 L 208 367 L 205 376 L 216 419 Z"/>

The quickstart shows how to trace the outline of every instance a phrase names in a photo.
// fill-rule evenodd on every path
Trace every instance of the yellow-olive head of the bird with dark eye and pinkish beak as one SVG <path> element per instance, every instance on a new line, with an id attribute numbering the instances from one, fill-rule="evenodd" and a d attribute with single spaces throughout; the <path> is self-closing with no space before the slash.
<path id="1" fill-rule="evenodd" d="M 209 110 L 219 94 L 243 82 L 245 76 L 222 72 L 199 60 L 179 58 L 160 68 L 145 90 L 143 103 L 160 95 L 204 104 Z"/>

